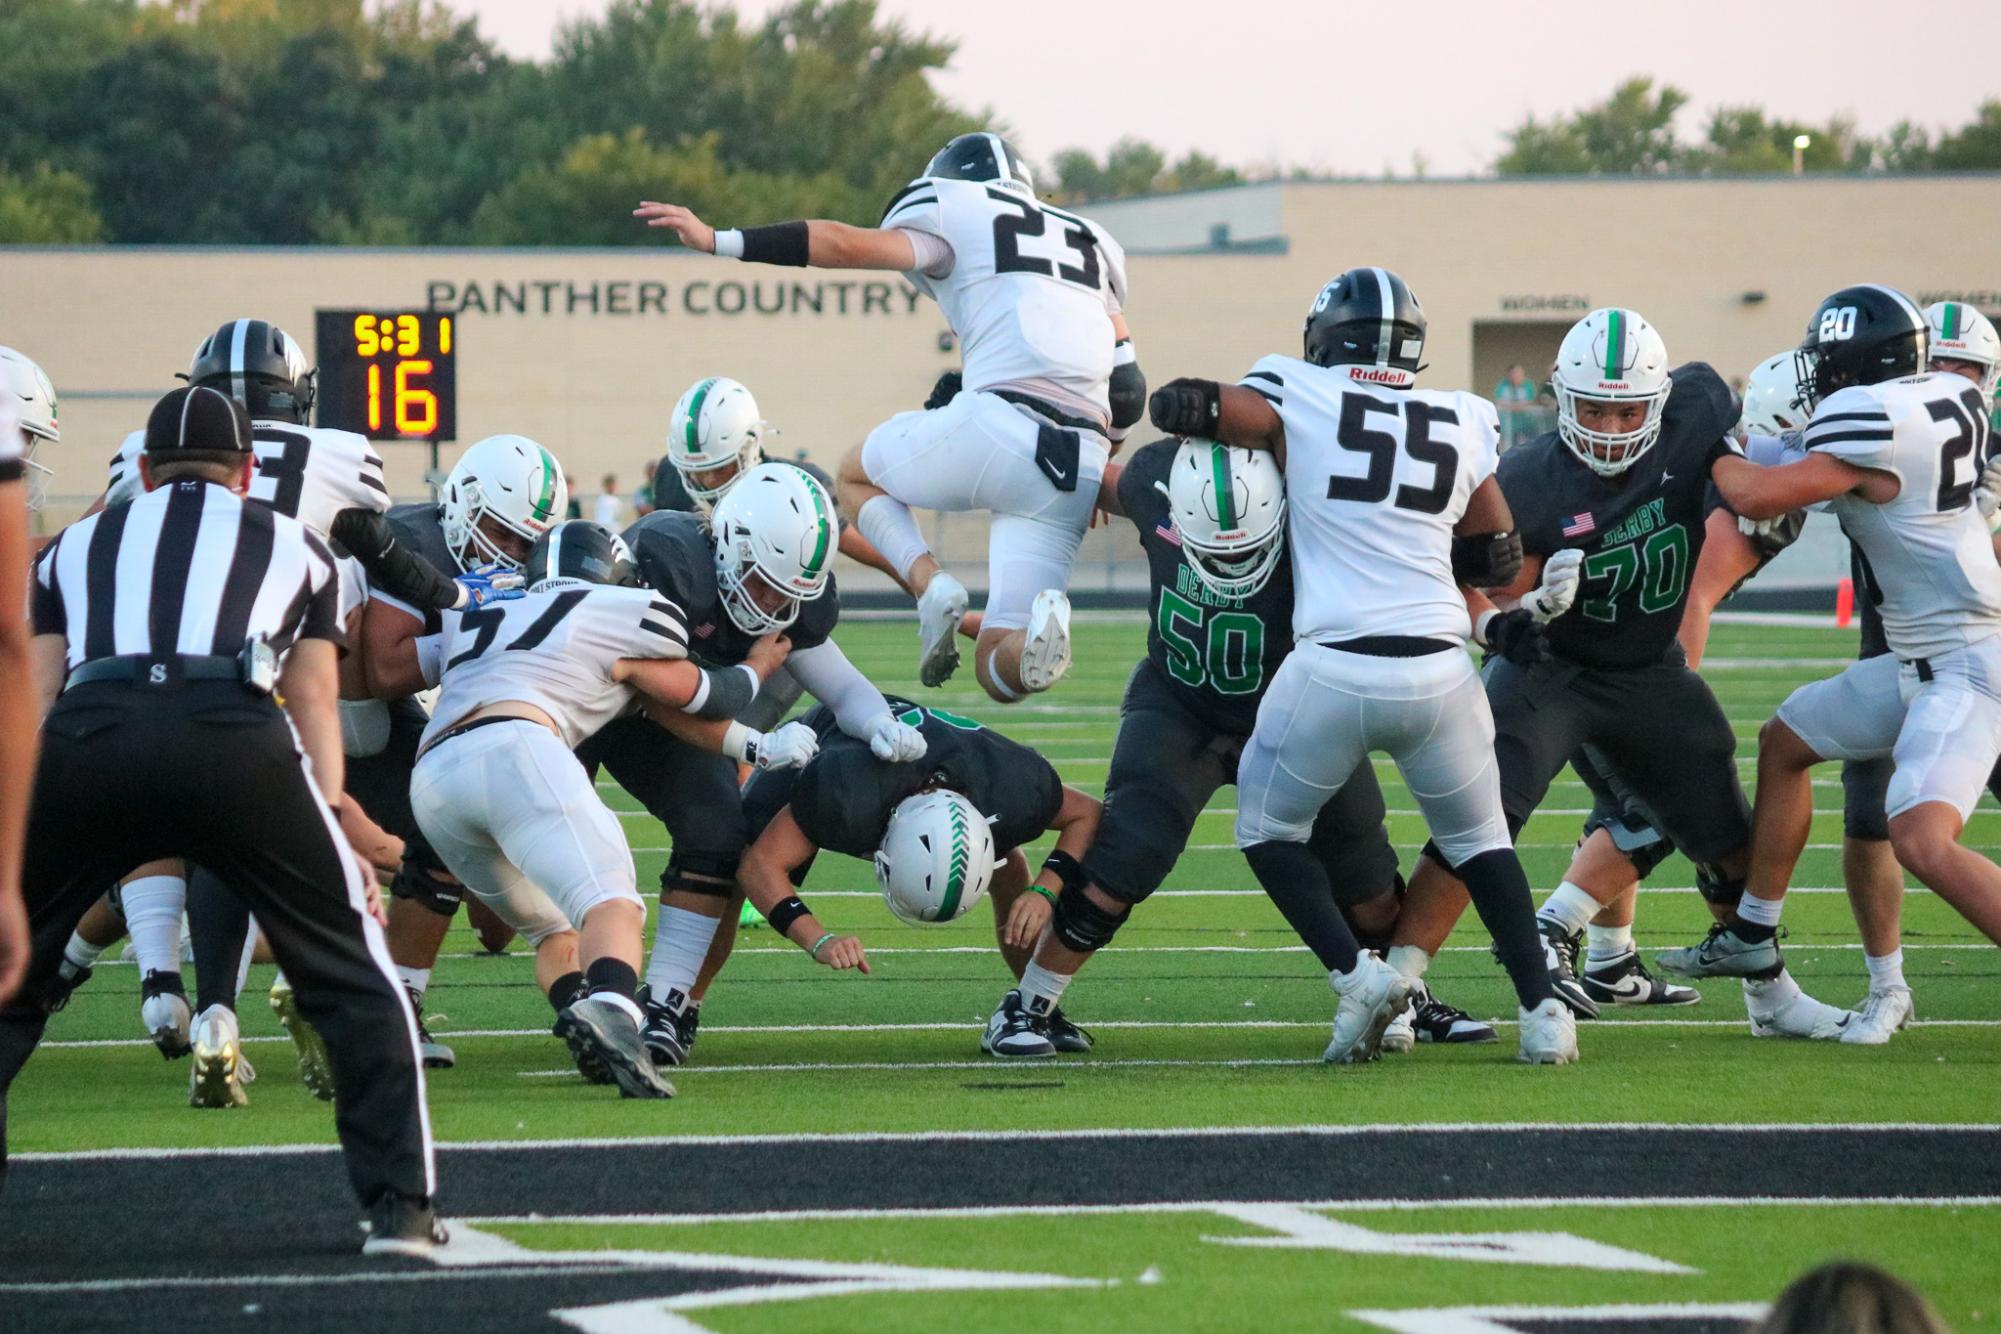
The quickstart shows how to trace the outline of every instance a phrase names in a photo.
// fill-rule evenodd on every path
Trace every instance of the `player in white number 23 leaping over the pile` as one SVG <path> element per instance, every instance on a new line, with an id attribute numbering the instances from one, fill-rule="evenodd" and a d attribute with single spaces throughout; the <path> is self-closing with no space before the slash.
<path id="1" fill-rule="evenodd" d="M 876 426 L 840 464 L 840 500 L 918 598 L 926 686 L 958 666 L 966 590 L 938 570 L 910 506 L 990 512 L 980 686 L 1003 702 L 1049 690 L 1071 662 L 1071 562 L 1111 444 L 1145 410 L 1119 242 L 1041 204 L 996 134 L 946 144 L 874 228 L 812 220 L 716 232 L 678 204 L 634 212 L 692 250 L 892 270 L 938 302 L 964 352 L 964 390 Z"/>

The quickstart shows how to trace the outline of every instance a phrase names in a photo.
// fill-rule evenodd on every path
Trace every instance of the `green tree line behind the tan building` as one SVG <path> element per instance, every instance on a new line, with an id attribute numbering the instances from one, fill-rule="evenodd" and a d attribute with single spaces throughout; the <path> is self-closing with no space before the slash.
<path id="1" fill-rule="evenodd" d="M 950 56 L 874 0 L 614 0 L 540 62 L 438 0 L 0 0 L 0 242 L 642 244 L 642 196 L 866 224 L 952 134 L 1007 128 L 932 90 Z M 2001 168 L 2001 100 L 1881 138 L 1719 108 L 1695 144 L 1685 104 L 1635 78 L 1521 122 L 1493 168 L 1775 172 L 1795 134 L 1815 172 Z M 1069 202 L 1283 174 L 1137 138 L 1037 160 Z"/>

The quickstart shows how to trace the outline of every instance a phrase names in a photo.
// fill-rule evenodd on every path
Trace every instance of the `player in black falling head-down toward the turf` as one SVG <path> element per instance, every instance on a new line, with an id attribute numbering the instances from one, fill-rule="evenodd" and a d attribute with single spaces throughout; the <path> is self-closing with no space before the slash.
<path id="1" fill-rule="evenodd" d="M 924 794 L 952 792 L 970 804 L 960 820 L 974 834 L 964 866 L 948 866 L 950 880 L 932 920 L 964 912 L 982 886 L 994 904 L 994 940 L 1019 978 L 1029 950 L 1053 914 L 1063 880 L 1057 866 L 1073 864 L 1099 828 L 1099 800 L 1063 786 L 1057 770 L 1035 750 L 940 708 L 920 708 L 890 696 L 896 716 L 922 732 L 926 752 L 914 762 L 878 760 L 866 744 L 836 730 L 832 710 L 814 706 L 802 718 L 820 736 L 820 752 L 802 770 L 764 770 L 744 788 L 744 818 L 752 830 L 742 858 L 742 888 L 772 928 L 832 968 L 866 968 L 860 942 L 830 936 L 794 894 L 806 882 L 820 848 L 874 858 L 876 878 L 896 906 L 898 876 L 922 880 L 928 838 L 916 830 L 910 846 L 892 848 L 890 828 L 926 818 Z M 948 822 L 954 812 L 944 808 Z M 1051 860 L 1031 880 L 1023 844 L 1057 834 Z M 914 856 L 912 868 L 898 862 Z M 902 910 L 900 910 L 902 912 Z M 1061 1010 L 1047 1016 L 1047 1038 L 1063 1052 L 1089 1052 L 1091 1034 Z"/>

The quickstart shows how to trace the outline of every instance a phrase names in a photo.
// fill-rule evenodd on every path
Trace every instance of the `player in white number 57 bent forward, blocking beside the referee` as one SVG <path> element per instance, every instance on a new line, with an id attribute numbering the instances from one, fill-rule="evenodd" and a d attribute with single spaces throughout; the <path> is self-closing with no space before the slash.
<path id="1" fill-rule="evenodd" d="M 526 596 L 444 618 L 410 806 L 452 874 L 534 944 L 536 982 L 578 1064 L 628 1098 L 668 1098 L 640 1040 L 646 904 L 618 816 L 574 748 L 638 700 L 694 716 L 740 706 L 784 644 L 766 636 L 750 664 L 724 672 L 688 662 L 680 608 L 638 586 L 624 544 L 588 520 L 550 528 L 524 578 Z"/>

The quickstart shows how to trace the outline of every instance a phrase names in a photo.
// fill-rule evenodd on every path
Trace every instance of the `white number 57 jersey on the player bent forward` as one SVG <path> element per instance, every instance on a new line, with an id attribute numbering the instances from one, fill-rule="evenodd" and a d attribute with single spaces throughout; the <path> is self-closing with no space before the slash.
<path id="1" fill-rule="evenodd" d="M 534 704 L 568 748 L 632 702 L 612 680 L 620 658 L 686 658 L 680 608 L 652 588 L 542 580 L 526 596 L 446 612 L 440 692 L 418 746 L 488 704 Z"/>

